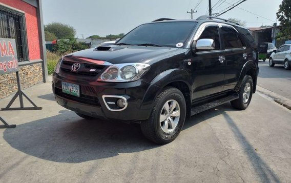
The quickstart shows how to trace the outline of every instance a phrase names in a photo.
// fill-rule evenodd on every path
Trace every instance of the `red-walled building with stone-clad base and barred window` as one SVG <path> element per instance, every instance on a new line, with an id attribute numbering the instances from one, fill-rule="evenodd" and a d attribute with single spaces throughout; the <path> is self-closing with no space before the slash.
<path id="1" fill-rule="evenodd" d="M 41 0 L 0 0 L 0 37 L 15 39 L 23 88 L 47 82 Z M 16 90 L 15 73 L 0 75 L 0 99 Z"/>

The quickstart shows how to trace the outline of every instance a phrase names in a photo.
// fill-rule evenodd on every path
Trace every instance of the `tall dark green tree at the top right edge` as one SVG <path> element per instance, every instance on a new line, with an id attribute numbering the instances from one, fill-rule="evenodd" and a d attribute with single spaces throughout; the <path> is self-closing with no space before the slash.
<path id="1" fill-rule="evenodd" d="M 291 37 L 291 0 L 283 0 L 277 12 L 277 18 L 281 22 L 281 32 L 277 37 Z"/>

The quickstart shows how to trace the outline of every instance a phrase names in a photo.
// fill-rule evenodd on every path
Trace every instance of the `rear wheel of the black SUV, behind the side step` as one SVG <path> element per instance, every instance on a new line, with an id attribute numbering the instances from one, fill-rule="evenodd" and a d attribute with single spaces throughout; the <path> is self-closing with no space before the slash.
<path id="1" fill-rule="evenodd" d="M 245 75 L 238 92 L 239 98 L 231 101 L 234 108 L 245 110 L 250 105 L 253 96 L 254 82 L 250 75 Z"/>

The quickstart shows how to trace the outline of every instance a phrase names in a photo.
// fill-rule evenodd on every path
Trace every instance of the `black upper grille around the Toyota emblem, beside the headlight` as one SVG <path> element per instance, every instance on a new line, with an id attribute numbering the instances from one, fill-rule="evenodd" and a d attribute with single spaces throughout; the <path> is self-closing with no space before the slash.
<path id="1" fill-rule="evenodd" d="M 81 66 L 77 71 L 72 71 L 72 66 L 75 63 L 79 63 Z M 70 61 L 63 59 L 60 65 L 60 72 L 67 75 L 79 75 L 79 76 L 98 76 L 99 73 L 102 73 L 105 70 L 106 66 L 98 65 L 94 63 L 85 63 L 81 60 Z"/>

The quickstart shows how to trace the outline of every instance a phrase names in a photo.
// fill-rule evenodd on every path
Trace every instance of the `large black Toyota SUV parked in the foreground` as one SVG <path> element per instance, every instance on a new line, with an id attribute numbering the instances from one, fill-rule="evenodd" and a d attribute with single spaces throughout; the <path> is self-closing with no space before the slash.
<path id="1" fill-rule="evenodd" d="M 239 24 L 161 18 L 112 46 L 64 56 L 52 87 L 57 103 L 79 116 L 140 123 L 147 138 L 166 144 L 186 117 L 229 101 L 246 109 L 256 91 L 257 55 Z"/>

